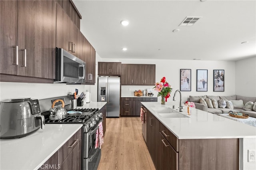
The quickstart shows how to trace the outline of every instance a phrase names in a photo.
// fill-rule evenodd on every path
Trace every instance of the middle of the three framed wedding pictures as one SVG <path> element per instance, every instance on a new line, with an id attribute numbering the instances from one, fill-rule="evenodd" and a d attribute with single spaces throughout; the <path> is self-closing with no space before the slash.
<path id="1" fill-rule="evenodd" d="M 196 91 L 207 91 L 208 70 L 196 70 Z"/>

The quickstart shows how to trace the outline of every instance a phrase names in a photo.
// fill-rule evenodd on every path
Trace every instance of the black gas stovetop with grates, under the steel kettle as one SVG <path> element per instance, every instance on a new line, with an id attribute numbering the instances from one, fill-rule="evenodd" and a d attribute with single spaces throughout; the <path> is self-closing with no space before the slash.
<path id="1" fill-rule="evenodd" d="M 79 111 L 81 113 L 75 113 L 75 114 L 68 114 L 67 117 L 63 119 L 58 119 L 58 120 L 50 120 L 49 116 L 47 117 L 48 113 L 44 113 L 45 117 L 45 123 L 46 124 L 51 124 L 51 123 L 87 123 L 87 121 L 91 121 L 90 118 L 96 115 L 97 111 L 99 109 L 72 109 L 69 111 Z"/>

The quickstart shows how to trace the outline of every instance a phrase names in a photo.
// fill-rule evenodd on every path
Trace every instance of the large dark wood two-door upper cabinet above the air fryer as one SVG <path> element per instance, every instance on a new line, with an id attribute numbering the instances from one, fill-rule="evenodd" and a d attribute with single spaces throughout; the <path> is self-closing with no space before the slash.
<path id="1" fill-rule="evenodd" d="M 1 81 L 10 75 L 54 79 L 56 2 L 0 1 L 0 6 Z"/>

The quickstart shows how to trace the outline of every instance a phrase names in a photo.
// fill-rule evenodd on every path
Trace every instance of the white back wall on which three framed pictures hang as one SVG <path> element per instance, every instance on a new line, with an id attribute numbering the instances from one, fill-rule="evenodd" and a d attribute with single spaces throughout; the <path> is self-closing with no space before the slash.
<path id="1" fill-rule="evenodd" d="M 166 77 L 166 81 L 174 88 L 171 93 L 171 99 L 174 91 L 180 89 L 180 69 L 191 69 L 191 91 L 182 91 L 182 101 L 187 101 L 190 95 L 221 95 L 228 96 L 235 94 L 234 81 L 235 77 L 235 61 L 188 61 L 188 60 L 157 60 L 157 59 L 104 59 L 106 62 L 122 62 L 122 63 L 138 63 L 138 64 L 156 64 L 156 81 L 160 81 L 162 77 Z M 196 91 L 196 69 L 208 69 L 208 91 Z M 225 89 L 224 92 L 213 92 L 213 70 L 224 69 Z M 139 74 L 139 73 L 137 73 Z M 153 86 L 152 86 L 153 87 Z M 122 87 L 122 90 L 126 87 Z M 136 86 L 135 86 L 136 88 Z M 142 88 L 142 87 L 140 87 Z M 148 88 L 148 86 L 146 87 Z M 146 89 L 145 88 L 145 89 Z M 127 89 L 127 88 L 126 88 Z M 122 93 L 124 93 L 122 91 Z M 160 98 L 158 99 L 160 100 Z M 177 99 L 178 101 L 179 99 Z"/>

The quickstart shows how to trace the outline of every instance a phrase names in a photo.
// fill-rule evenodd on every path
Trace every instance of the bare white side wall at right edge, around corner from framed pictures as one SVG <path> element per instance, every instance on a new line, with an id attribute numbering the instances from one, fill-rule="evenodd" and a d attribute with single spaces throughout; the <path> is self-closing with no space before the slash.
<path id="1" fill-rule="evenodd" d="M 236 95 L 256 97 L 256 57 L 236 61 Z"/>

